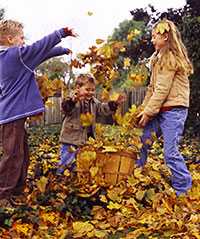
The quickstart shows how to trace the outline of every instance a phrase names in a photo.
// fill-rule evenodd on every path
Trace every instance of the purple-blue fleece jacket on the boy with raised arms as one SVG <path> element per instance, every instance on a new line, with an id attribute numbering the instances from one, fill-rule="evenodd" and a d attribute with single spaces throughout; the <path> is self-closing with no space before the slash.
<path id="1" fill-rule="evenodd" d="M 64 37 L 60 29 L 29 46 L 0 47 L 0 124 L 44 111 L 34 69 L 67 53 L 66 48 L 54 47 Z"/>

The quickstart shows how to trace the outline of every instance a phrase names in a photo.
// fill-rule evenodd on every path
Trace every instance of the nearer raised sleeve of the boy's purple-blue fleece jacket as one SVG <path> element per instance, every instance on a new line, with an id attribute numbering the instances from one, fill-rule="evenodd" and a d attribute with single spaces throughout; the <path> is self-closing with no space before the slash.
<path id="1" fill-rule="evenodd" d="M 55 31 L 52 34 L 45 36 L 41 40 L 36 41 L 32 45 L 19 48 L 20 60 L 28 68 L 34 70 L 44 59 L 46 59 L 48 54 L 54 55 L 54 50 L 52 53 L 50 51 L 64 37 L 66 37 L 64 29 L 60 29 L 59 31 Z"/>

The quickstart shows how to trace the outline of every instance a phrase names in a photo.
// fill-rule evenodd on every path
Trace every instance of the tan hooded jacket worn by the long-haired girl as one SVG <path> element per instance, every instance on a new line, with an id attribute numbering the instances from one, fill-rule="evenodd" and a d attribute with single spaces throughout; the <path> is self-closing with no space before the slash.
<path id="1" fill-rule="evenodd" d="M 172 52 L 167 55 L 170 64 L 161 64 L 162 52 L 152 55 L 151 79 L 143 101 L 144 113 L 153 117 L 162 107 L 189 106 L 190 86 L 188 75 L 177 67 Z"/>

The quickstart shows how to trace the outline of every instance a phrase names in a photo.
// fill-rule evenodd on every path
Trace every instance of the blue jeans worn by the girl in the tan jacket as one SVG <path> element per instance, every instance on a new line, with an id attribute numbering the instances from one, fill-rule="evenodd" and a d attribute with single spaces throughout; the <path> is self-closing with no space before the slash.
<path id="1" fill-rule="evenodd" d="M 148 149 L 151 147 L 151 145 L 145 144 L 146 140 L 150 139 L 152 141 L 152 132 L 155 132 L 158 137 L 162 133 L 164 139 L 164 158 L 166 165 L 171 171 L 172 187 L 176 190 L 177 195 L 187 192 L 192 186 L 191 174 L 178 149 L 187 114 L 188 110 L 185 108 L 174 108 L 170 111 L 160 113 L 151 120 L 144 128 L 141 137 L 143 147 L 140 159 L 137 160 L 138 166 L 144 166 L 147 160 Z"/>

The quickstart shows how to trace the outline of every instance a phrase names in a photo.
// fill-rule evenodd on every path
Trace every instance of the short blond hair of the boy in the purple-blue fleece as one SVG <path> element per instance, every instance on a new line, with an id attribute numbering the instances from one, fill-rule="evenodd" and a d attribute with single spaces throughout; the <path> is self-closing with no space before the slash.
<path id="1" fill-rule="evenodd" d="M 13 20 L 1 20 L 0 44 L 4 44 L 7 41 L 7 36 L 16 36 L 18 34 L 19 29 L 23 29 L 22 23 Z"/>

